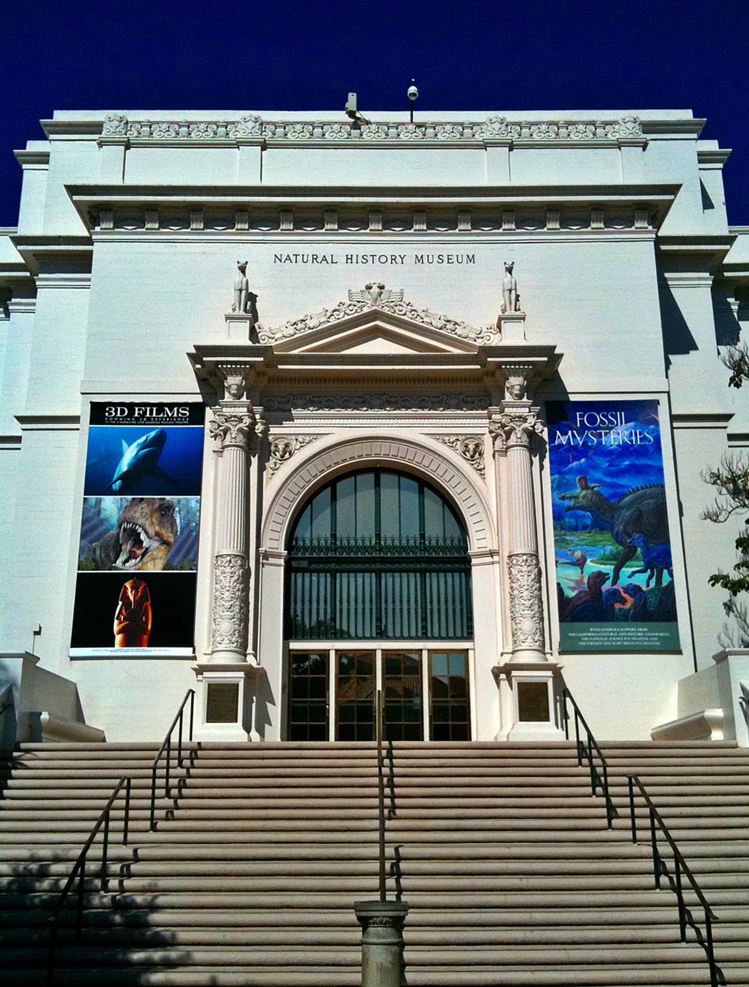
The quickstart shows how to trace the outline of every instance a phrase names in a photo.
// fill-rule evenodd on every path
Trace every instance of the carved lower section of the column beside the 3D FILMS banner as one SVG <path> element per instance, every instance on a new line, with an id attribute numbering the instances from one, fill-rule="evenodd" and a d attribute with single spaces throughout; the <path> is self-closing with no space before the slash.
<path id="1" fill-rule="evenodd" d="M 219 553 L 213 573 L 213 636 L 210 661 L 247 661 L 247 557 Z"/>

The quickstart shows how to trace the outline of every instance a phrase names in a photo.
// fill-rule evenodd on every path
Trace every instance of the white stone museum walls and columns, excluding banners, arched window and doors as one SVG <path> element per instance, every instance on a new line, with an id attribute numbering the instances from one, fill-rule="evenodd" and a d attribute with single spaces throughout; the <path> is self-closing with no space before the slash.
<path id="1" fill-rule="evenodd" d="M 382 467 L 465 526 L 475 739 L 562 736 L 563 685 L 599 740 L 704 712 L 679 683 L 712 669 L 707 579 L 736 526 L 700 519 L 700 473 L 749 446 L 719 360 L 749 318 L 728 152 L 677 111 L 341 115 L 55 114 L 18 152 L 18 228 L 0 230 L 0 652 L 31 650 L 41 625 L 39 667 L 110 740 L 163 736 L 196 680 L 198 736 L 285 739 L 290 526 L 331 479 Z M 678 652 L 560 654 L 545 407 L 588 400 L 659 402 Z M 191 659 L 70 657 L 101 401 L 206 405 Z M 549 686 L 547 726 L 517 720 L 525 680 Z M 243 702 L 216 730 L 219 681 Z"/>

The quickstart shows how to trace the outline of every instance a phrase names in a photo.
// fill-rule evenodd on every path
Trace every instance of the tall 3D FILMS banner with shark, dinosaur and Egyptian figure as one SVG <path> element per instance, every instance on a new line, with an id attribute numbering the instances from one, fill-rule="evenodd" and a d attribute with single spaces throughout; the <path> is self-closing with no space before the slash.
<path id="1" fill-rule="evenodd" d="M 92 404 L 71 657 L 192 654 L 203 422 Z"/>

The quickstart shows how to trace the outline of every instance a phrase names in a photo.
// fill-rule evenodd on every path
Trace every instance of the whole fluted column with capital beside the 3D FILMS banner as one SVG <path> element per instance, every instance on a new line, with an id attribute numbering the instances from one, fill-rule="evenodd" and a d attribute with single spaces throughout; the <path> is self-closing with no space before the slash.
<path id="1" fill-rule="evenodd" d="M 222 451 L 216 493 L 212 662 L 247 660 L 247 457 L 256 423 L 252 405 L 222 402 L 210 426 Z"/>

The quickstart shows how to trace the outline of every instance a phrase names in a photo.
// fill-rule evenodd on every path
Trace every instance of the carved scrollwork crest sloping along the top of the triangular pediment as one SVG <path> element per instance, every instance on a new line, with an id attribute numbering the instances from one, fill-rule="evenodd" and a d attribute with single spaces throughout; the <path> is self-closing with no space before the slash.
<path id="1" fill-rule="evenodd" d="M 339 301 L 332 308 L 321 309 L 319 312 L 302 316 L 300 319 L 293 319 L 282 326 L 259 329 L 258 337 L 262 343 L 270 345 L 293 339 L 302 333 L 323 329 L 340 322 L 342 319 L 348 319 L 367 311 L 388 312 L 391 315 L 409 319 L 420 326 L 426 326 L 428 329 L 448 333 L 478 345 L 498 342 L 497 331 L 494 326 L 481 329 L 476 326 L 469 326 L 465 322 L 459 322 L 457 319 L 450 319 L 446 315 L 429 312 L 428 309 L 419 309 L 411 302 L 403 301 L 402 288 L 386 289 L 384 285 L 375 286 L 372 284 L 366 285 L 362 291 L 349 291 L 348 300 Z"/>

